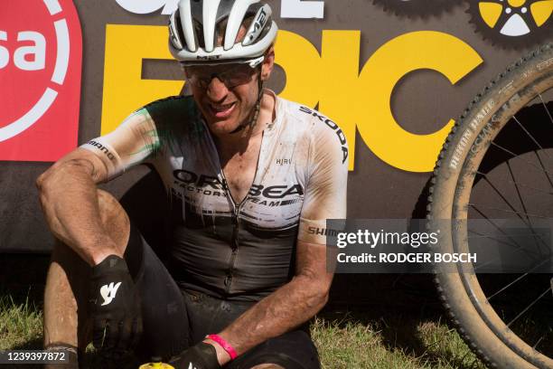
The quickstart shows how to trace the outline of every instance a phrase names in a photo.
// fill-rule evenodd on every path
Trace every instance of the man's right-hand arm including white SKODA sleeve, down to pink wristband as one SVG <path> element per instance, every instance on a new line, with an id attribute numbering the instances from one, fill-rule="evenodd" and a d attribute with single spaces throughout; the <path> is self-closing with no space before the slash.
<path id="1" fill-rule="evenodd" d="M 314 317 L 328 299 L 334 265 L 327 269 L 326 237 L 317 235 L 325 233 L 310 229 L 323 230 L 327 219 L 345 218 L 347 144 L 319 118 L 313 120 L 312 127 L 311 175 L 299 222 L 295 277 L 220 332 L 239 355 Z M 333 256 L 334 251 L 330 260 L 335 260 Z M 219 345 L 211 344 L 218 351 L 220 363 L 226 363 L 229 355 Z"/>

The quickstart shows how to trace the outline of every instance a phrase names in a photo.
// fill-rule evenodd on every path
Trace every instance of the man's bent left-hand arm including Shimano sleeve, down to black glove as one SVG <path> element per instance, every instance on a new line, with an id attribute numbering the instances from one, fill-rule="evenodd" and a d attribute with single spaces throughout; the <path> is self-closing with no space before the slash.
<path id="1" fill-rule="evenodd" d="M 42 211 L 52 233 L 90 265 L 108 255 L 122 257 L 124 252 L 117 250 L 102 225 L 98 183 L 141 163 L 158 146 L 158 136 L 148 111 L 137 110 L 115 131 L 62 157 L 37 179 Z"/>

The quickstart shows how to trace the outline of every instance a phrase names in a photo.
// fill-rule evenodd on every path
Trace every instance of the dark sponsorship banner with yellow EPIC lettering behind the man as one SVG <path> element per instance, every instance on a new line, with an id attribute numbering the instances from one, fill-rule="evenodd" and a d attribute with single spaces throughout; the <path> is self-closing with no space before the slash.
<path id="1" fill-rule="evenodd" d="M 339 126 L 335 133 L 349 147 L 338 155 L 350 169 L 351 219 L 425 218 L 429 180 L 455 120 L 490 80 L 553 34 L 548 0 L 268 3 L 279 33 L 277 67 L 267 87 Z M 148 102 L 186 91 L 167 47 L 167 16 L 176 5 L 0 4 L 0 251 L 51 251 L 37 176 Z M 550 107 L 550 91 L 541 98 Z M 540 142 L 543 148 L 551 144 Z M 520 152 L 533 155 L 532 149 Z M 508 168 L 497 175 L 509 184 Z M 161 218 L 154 214 L 167 196 L 148 168 L 102 186 L 122 198 L 134 219 L 145 218 L 137 222 Z M 546 211 L 551 205 L 539 196 L 532 201 Z M 353 230 L 384 229 L 352 224 Z M 350 267 L 365 271 L 353 265 L 344 272 Z"/>

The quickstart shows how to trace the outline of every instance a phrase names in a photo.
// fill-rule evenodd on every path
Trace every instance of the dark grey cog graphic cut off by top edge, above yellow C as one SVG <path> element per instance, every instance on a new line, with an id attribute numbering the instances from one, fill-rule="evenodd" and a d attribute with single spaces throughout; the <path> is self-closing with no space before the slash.
<path id="1" fill-rule="evenodd" d="M 380 5 L 385 12 L 410 18 L 444 13 L 461 2 L 452 0 L 373 0 L 374 5 Z"/>

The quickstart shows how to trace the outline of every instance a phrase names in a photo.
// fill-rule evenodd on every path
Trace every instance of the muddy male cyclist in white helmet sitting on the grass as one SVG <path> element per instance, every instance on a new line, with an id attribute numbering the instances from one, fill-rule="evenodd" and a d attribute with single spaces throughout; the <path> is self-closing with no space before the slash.
<path id="1" fill-rule="evenodd" d="M 44 345 L 176 368 L 318 368 L 306 322 L 325 304 L 325 220 L 345 217 L 348 148 L 318 112 L 278 98 L 277 24 L 258 0 L 182 0 L 169 47 L 192 96 L 155 101 L 37 181 L 60 241 Z M 172 207 L 164 264 L 98 189 L 150 163 Z"/>

